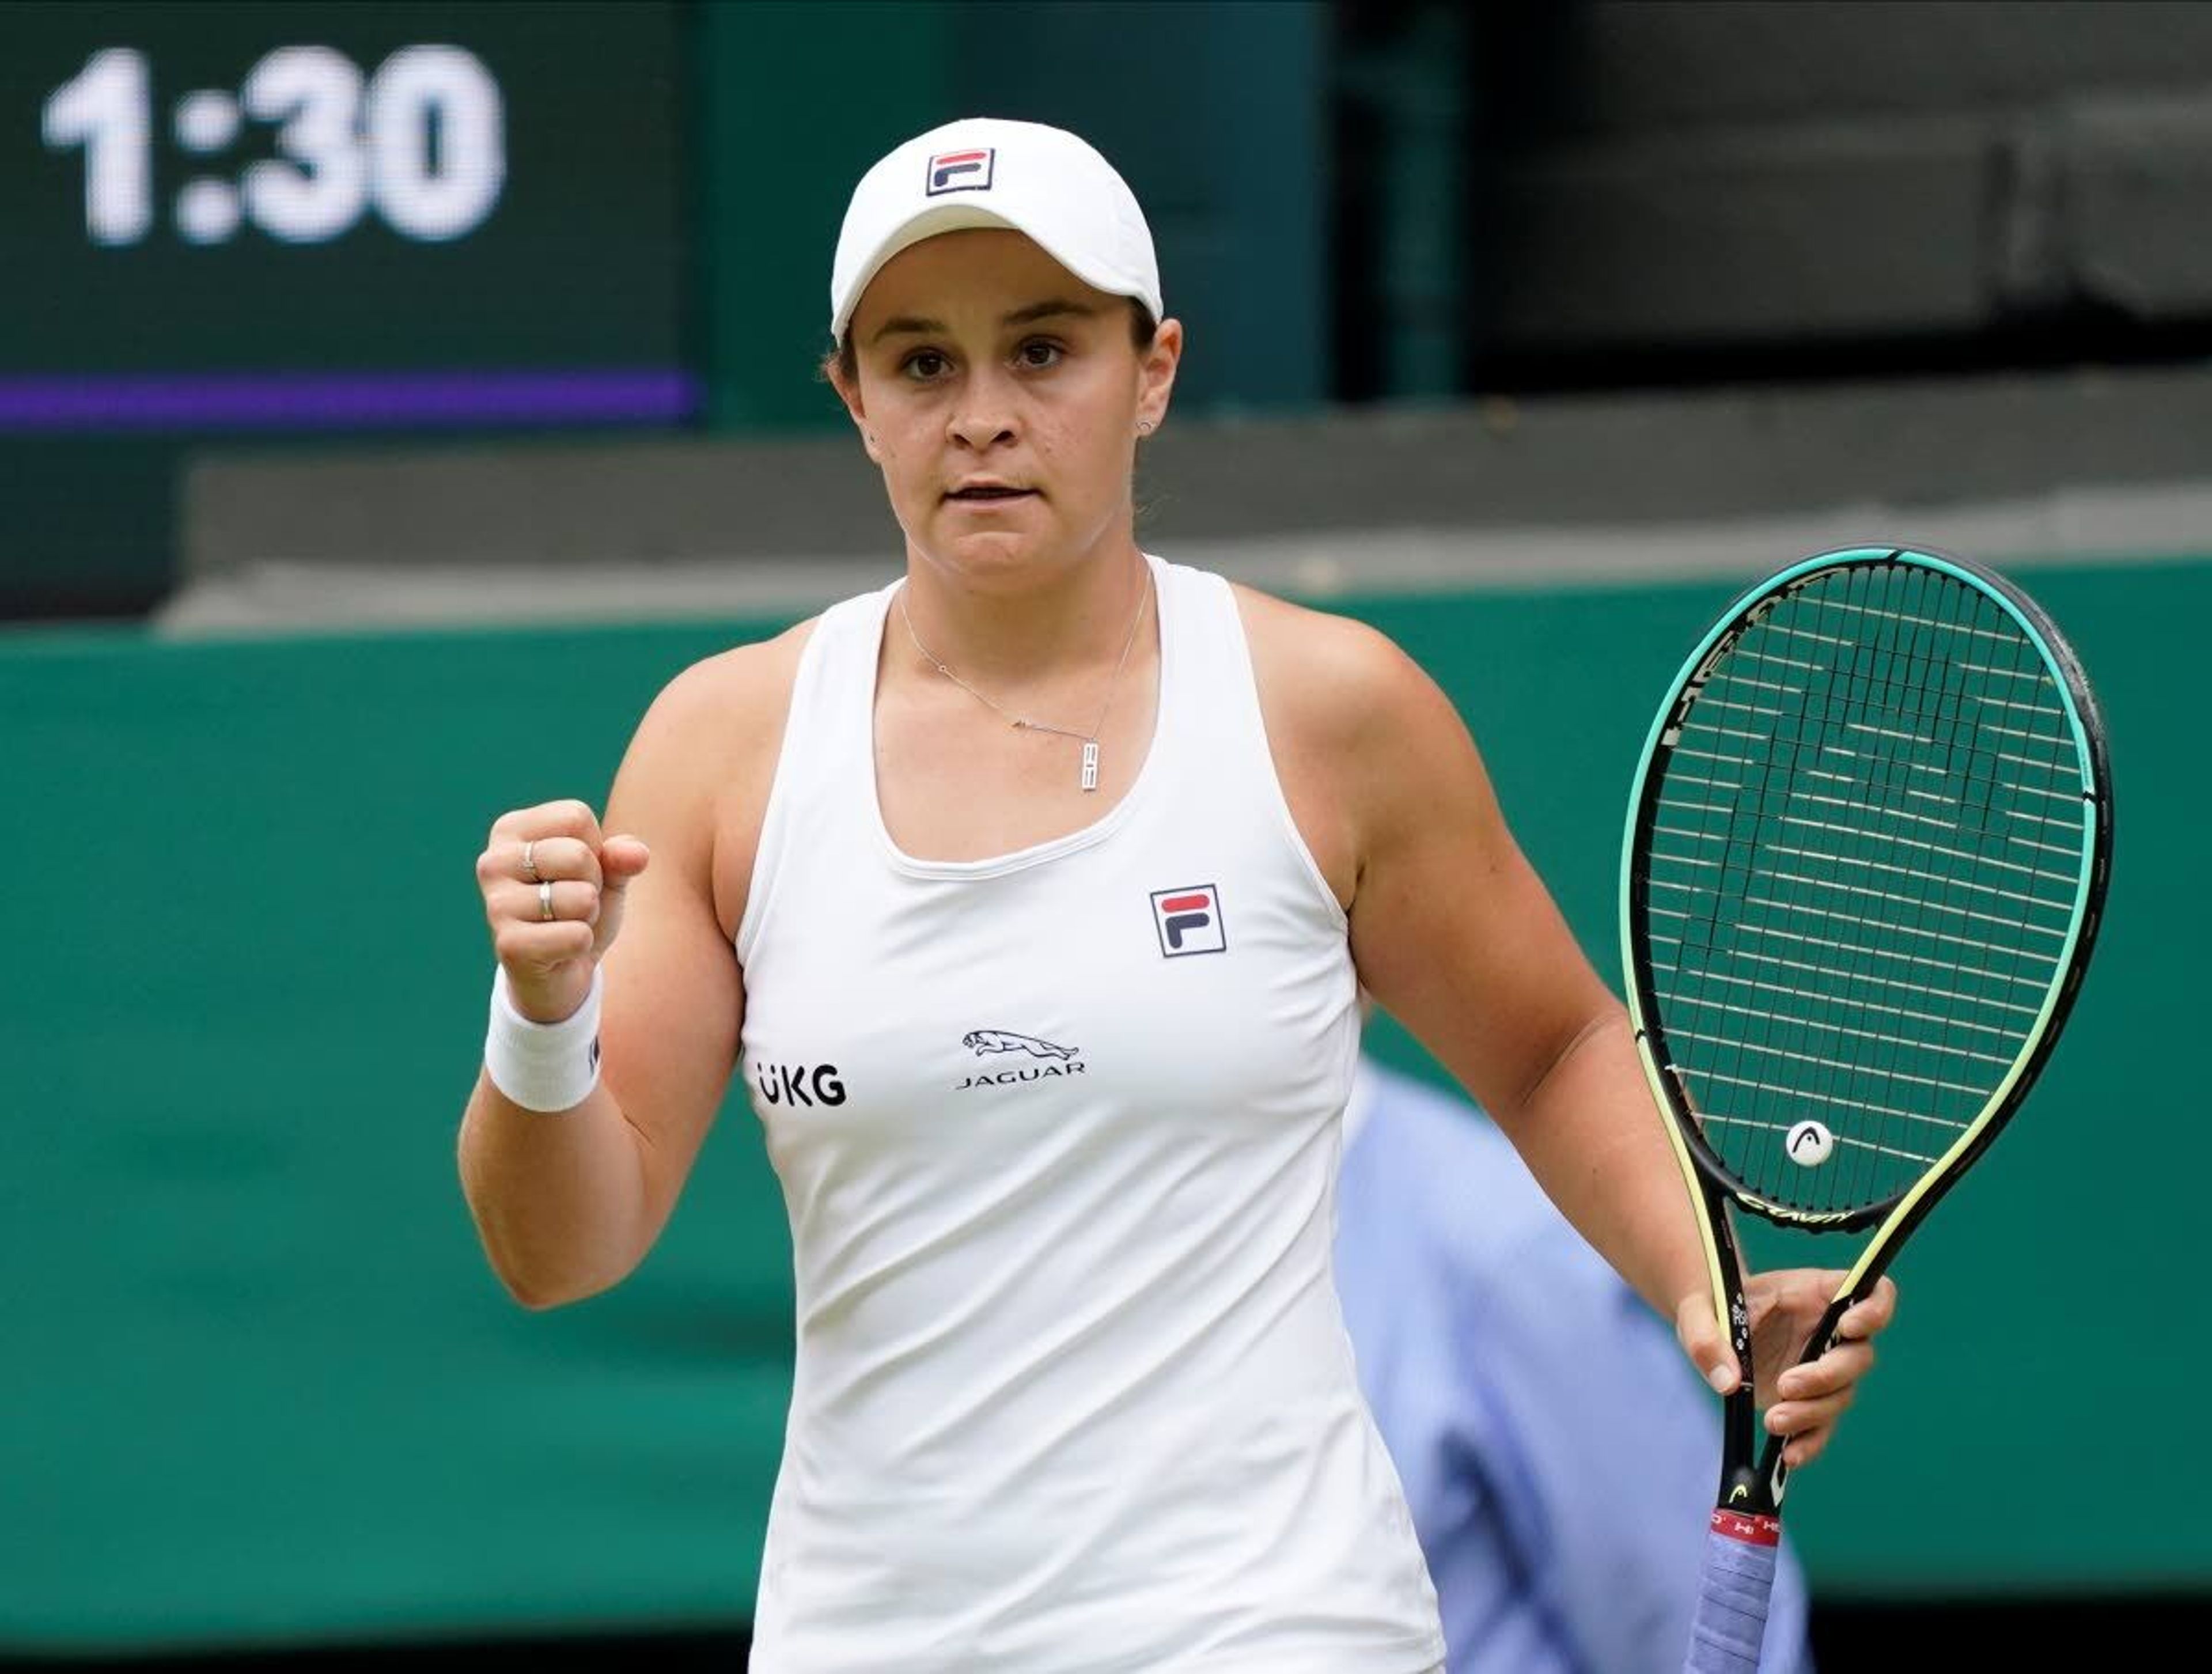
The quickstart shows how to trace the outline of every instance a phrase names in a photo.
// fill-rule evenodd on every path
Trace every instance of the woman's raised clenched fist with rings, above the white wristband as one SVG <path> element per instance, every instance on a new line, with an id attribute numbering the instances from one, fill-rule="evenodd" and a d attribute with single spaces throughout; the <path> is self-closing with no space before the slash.
<path id="1" fill-rule="evenodd" d="M 584 803 L 540 803 L 493 820 L 476 882 L 515 1011 L 557 1024 L 584 1004 L 591 973 L 622 931 L 622 896 L 650 858 L 633 836 L 602 836 Z"/>

